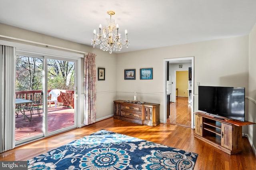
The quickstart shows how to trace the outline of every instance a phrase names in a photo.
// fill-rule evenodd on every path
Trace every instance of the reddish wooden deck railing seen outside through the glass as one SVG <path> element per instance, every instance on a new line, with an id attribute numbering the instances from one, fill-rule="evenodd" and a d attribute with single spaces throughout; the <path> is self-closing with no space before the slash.
<path id="1" fill-rule="evenodd" d="M 74 108 L 74 90 L 60 90 L 60 96 L 58 97 L 58 105 L 70 106 Z M 51 90 L 48 90 L 49 93 Z M 34 100 L 35 93 L 41 93 L 42 90 L 31 90 L 31 91 L 16 91 L 16 99 L 27 99 Z"/>

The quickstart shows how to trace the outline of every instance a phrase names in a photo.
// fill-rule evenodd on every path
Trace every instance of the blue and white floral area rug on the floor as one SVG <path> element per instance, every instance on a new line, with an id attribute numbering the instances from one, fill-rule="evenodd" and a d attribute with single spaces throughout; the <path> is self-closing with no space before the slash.
<path id="1" fill-rule="evenodd" d="M 28 160 L 28 169 L 192 170 L 198 154 L 100 130 Z"/>

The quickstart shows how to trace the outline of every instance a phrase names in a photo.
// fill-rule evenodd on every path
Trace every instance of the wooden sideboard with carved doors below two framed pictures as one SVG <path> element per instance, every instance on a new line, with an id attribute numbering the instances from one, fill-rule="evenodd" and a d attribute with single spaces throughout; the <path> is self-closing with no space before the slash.
<path id="1" fill-rule="evenodd" d="M 157 126 L 160 124 L 160 104 L 126 103 L 124 100 L 114 101 L 114 118 L 140 125 Z"/>

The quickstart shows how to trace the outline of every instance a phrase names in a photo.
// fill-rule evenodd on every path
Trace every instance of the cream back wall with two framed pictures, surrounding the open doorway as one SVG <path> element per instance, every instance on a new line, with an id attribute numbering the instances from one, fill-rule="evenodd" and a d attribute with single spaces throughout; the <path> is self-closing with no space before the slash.
<path id="1" fill-rule="evenodd" d="M 117 54 L 117 98 L 160 103 L 160 121 L 164 120 L 163 61 L 194 56 L 194 82 L 200 85 L 245 87 L 248 95 L 248 36 Z M 140 80 L 140 68 L 153 68 L 153 80 Z M 136 69 L 136 80 L 124 80 L 124 69 Z M 194 95 L 194 111 L 198 111 Z"/>

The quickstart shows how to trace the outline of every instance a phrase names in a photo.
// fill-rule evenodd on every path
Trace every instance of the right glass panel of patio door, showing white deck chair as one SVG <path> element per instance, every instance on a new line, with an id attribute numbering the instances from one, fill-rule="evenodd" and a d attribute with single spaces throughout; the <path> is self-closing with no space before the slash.
<path id="1" fill-rule="evenodd" d="M 47 59 L 48 133 L 74 128 L 75 62 Z"/>

